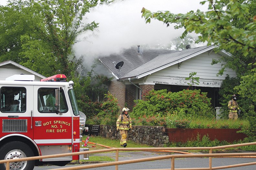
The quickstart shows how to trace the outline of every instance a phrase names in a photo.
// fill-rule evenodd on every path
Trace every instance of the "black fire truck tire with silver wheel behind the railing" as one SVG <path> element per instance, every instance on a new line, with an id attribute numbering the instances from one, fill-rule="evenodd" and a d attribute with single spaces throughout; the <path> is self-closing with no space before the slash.
<path id="1" fill-rule="evenodd" d="M 35 161 L 22 161 L 19 158 L 34 156 L 32 149 L 25 143 L 19 141 L 8 142 L 0 147 L 0 160 L 17 159 L 10 163 L 10 170 L 33 170 Z M 6 164 L 0 164 L 0 169 L 6 169 Z"/>

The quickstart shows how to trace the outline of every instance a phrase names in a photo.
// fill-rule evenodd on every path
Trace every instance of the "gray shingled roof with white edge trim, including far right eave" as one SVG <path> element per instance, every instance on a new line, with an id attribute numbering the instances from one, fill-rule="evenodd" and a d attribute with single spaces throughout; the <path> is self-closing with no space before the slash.
<path id="1" fill-rule="evenodd" d="M 120 54 L 121 59 L 124 61 L 124 65 L 120 71 L 120 74 L 118 75 L 118 70 L 115 69 L 112 62 L 109 60 L 117 59 L 118 57 L 113 56 L 106 56 L 101 60 L 101 62 L 108 67 L 108 69 L 112 72 L 112 74 L 119 80 L 127 80 L 131 78 L 142 78 L 146 75 L 149 75 L 151 73 L 154 73 L 156 71 L 162 70 L 164 68 L 167 68 L 169 66 L 172 66 L 174 64 L 180 63 L 182 61 L 188 60 L 192 57 L 195 57 L 203 52 L 211 51 L 216 46 L 210 45 L 210 46 L 202 46 L 197 48 L 190 48 L 183 51 L 172 51 L 167 50 L 164 53 L 160 54 L 160 52 L 154 53 L 147 53 L 146 55 L 143 54 L 141 57 L 145 57 L 146 59 L 141 59 L 137 56 L 137 58 L 134 60 L 134 55 L 129 55 L 131 53 L 128 53 L 128 55 Z M 152 49 L 151 49 L 152 50 Z M 154 50 L 153 50 L 154 51 Z M 157 50 L 155 50 L 157 51 Z M 222 51 L 227 55 L 230 55 L 228 52 Z M 155 54 L 155 56 L 147 56 L 149 54 Z M 125 56 L 125 57 L 124 57 Z M 113 57 L 113 58 L 111 58 Z M 123 57 L 123 58 L 122 58 Z M 110 63 L 109 63 L 110 62 Z M 119 61 L 117 61 L 119 62 Z"/>

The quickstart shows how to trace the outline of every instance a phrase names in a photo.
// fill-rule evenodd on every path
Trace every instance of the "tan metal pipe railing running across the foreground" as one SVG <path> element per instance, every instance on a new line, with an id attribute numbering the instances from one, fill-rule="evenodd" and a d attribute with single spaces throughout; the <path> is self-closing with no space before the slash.
<path id="1" fill-rule="evenodd" d="M 30 161 L 30 160 L 40 160 L 45 158 L 53 158 L 53 157 L 63 157 L 63 156 L 74 156 L 74 155 L 81 155 L 81 154 L 92 154 L 92 153 L 102 153 L 102 152 L 116 152 L 115 162 L 111 163 L 101 163 L 101 164 L 94 164 L 94 165 L 82 165 L 79 167 L 65 167 L 65 168 L 58 168 L 54 170 L 76 170 L 76 169 L 86 169 L 86 168 L 93 168 L 93 167 L 102 167 L 102 166 L 112 166 L 115 165 L 115 170 L 118 170 L 118 165 L 122 164 L 130 164 L 130 163 L 137 163 L 137 162 L 145 162 L 145 161 L 152 161 L 152 160 L 160 160 L 160 159 L 168 159 L 171 158 L 171 170 L 174 170 L 174 162 L 175 158 L 185 158 L 185 157 L 209 157 L 209 167 L 207 168 L 196 168 L 196 169 L 223 169 L 229 167 L 238 167 L 238 166 L 246 166 L 246 165 L 256 165 L 256 162 L 251 163 L 244 163 L 244 164 L 236 164 L 236 165 L 227 165 L 227 166 L 219 166 L 219 167 L 212 167 L 212 157 L 255 157 L 256 153 L 220 153 L 220 154 L 212 154 L 213 149 L 223 149 L 223 148 L 230 148 L 230 147 L 239 147 L 239 146 L 249 146 L 249 145 L 256 145 L 256 142 L 251 143 L 244 143 L 244 144 L 235 144 L 235 145 L 226 145 L 226 146 L 214 146 L 214 147 L 157 147 L 157 148 L 109 148 L 109 149 L 101 149 L 101 150 L 93 150 L 93 151 L 83 151 L 83 152 L 75 152 L 75 153 L 67 153 L 67 154 L 57 154 L 57 155 L 46 155 L 46 156 L 32 156 L 26 158 L 20 158 L 18 161 Z M 187 155 L 168 155 L 168 156 L 157 156 L 151 158 L 141 158 L 141 159 L 134 159 L 134 160 L 126 160 L 126 161 L 118 161 L 119 151 L 159 151 L 159 150 L 209 150 L 209 154 L 187 154 Z M 0 164 L 6 163 L 6 170 L 9 170 L 10 162 L 16 162 L 15 160 L 0 160 Z M 177 170 L 182 170 L 184 168 L 178 168 Z M 186 170 L 193 170 L 195 168 L 186 168 Z M 184 169 L 185 170 L 185 169 Z"/>

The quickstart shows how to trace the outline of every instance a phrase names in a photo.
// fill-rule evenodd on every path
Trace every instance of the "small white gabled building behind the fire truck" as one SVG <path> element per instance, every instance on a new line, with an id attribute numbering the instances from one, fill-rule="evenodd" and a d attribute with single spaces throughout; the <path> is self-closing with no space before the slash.
<path id="1" fill-rule="evenodd" d="M 40 81 L 41 79 L 46 78 L 45 76 L 11 60 L 0 63 L 0 80 L 5 80 L 7 77 L 13 76 L 15 74 L 35 75 L 34 81 Z"/>

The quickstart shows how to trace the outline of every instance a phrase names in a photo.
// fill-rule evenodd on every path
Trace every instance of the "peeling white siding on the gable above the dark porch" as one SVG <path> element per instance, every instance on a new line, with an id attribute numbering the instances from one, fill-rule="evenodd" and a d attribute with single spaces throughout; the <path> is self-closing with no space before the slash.
<path id="1" fill-rule="evenodd" d="M 218 60 L 219 54 L 212 52 L 202 53 L 196 57 L 183 61 L 178 69 L 178 64 L 165 68 L 163 70 L 152 73 L 148 76 L 146 83 L 171 84 L 171 85 L 188 85 L 190 80 L 185 80 L 189 77 L 189 73 L 197 72 L 196 77 L 199 77 L 199 85 L 201 87 L 220 87 L 222 80 L 227 74 L 230 77 L 236 77 L 235 71 L 226 68 L 222 76 L 216 76 L 221 69 L 221 64 L 211 65 L 212 59 Z"/>

